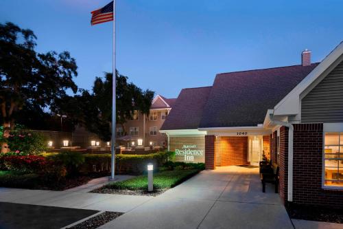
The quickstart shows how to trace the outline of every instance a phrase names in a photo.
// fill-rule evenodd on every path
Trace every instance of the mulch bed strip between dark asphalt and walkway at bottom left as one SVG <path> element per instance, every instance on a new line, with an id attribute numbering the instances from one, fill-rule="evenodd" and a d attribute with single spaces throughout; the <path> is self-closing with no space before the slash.
<path id="1" fill-rule="evenodd" d="M 70 229 L 95 229 L 99 226 L 108 223 L 109 221 L 123 215 L 121 212 L 103 212 L 95 217 L 91 217 L 86 221 L 76 224 L 75 226 L 70 227 Z"/>

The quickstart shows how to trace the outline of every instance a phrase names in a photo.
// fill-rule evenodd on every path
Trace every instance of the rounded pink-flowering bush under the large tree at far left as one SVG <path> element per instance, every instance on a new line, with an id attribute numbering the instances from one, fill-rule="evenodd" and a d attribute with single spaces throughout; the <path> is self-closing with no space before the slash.
<path id="1" fill-rule="evenodd" d="M 46 139 L 41 133 L 28 130 L 10 131 L 8 138 L 3 138 L 11 151 L 25 152 L 30 155 L 42 153 L 47 149 Z"/>

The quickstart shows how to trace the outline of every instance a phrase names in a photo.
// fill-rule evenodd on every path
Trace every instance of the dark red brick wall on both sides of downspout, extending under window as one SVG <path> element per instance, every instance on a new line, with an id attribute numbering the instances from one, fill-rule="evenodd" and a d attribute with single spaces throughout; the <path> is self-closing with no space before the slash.
<path id="1" fill-rule="evenodd" d="M 287 129 L 280 132 L 280 192 L 287 199 Z M 322 188 L 323 124 L 294 124 L 293 201 L 343 208 L 343 190 Z M 284 168 L 281 169 L 281 166 Z M 281 177 L 281 171 L 285 171 Z"/>

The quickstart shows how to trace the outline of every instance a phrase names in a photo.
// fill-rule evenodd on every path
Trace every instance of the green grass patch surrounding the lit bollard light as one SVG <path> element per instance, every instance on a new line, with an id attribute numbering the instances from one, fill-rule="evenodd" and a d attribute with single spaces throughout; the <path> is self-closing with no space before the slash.
<path id="1" fill-rule="evenodd" d="M 154 173 L 154 189 L 173 188 L 192 177 L 199 170 L 174 170 Z M 115 182 L 104 188 L 119 190 L 147 190 L 147 175 L 141 175 L 123 182 Z"/>

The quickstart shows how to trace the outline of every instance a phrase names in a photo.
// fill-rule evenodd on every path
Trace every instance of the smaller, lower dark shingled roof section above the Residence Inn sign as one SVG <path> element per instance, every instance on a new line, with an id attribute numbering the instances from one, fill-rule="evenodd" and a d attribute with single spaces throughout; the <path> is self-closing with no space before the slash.
<path id="1" fill-rule="evenodd" d="M 182 89 L 161 129 L 198 129 L 210 91 L 211 87 Z"/>

